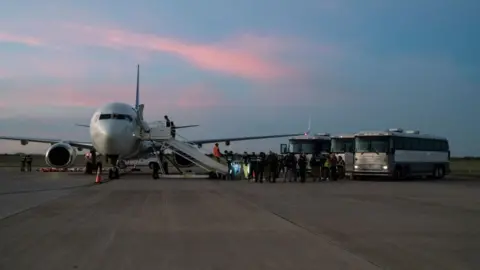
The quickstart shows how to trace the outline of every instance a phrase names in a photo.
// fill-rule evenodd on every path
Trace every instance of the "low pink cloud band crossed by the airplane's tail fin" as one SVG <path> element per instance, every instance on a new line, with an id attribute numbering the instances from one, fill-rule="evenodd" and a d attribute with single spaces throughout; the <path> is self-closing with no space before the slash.
<path id="1" fill-rule="evenodd" d="M 50 108 L 60 111 L 61 108 L 95 109 L 109 102 L 134 103 L 134 85 L 98 84 L 95 86 L 56 85 L 36 88 L 23 87 L 21 91 L 3 93 L 0 109 L 24 111 L 25 108 Z M 144 85 L 140 93 L 141 102 L 149 111 L 162 112 L 177 108 L 205 108 L 224 105 L 228 100 L 224 95 L 214 91 L 207 84 L 192 84 L 180 87 L 165 87 L 162 93 L 156 87 Z"/>

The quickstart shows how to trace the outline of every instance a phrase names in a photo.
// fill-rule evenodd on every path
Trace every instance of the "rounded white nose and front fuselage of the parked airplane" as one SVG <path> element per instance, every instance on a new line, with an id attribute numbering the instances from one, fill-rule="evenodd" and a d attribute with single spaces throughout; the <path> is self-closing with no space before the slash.
<path id="1" fill-rule="evenodd" d="M 90 137 L 95 150 L 105 156 L 131 158 L 143 148 L 141 124 L 135 108 L 125 103 L 109 103 L 90 120 Z"/>

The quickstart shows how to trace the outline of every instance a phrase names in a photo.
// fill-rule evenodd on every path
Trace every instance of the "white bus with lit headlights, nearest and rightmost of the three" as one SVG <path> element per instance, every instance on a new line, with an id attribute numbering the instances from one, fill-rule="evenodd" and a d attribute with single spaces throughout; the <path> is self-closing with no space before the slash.
<path id="1" fill-rule="evenodd" d="M 440 179 L 450 173 L 448 140 L 419 131 L 389 129 L 357 133 L 354 161 L 352 178 L 427 176 Z"/>

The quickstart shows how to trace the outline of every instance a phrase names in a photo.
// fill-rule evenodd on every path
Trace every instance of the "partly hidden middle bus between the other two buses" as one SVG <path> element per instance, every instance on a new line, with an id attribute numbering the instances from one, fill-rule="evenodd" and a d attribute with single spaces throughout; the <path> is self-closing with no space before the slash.
<path id="1" fill-rule="evenodd" d="M 342 159 L 345 161 L 345 175 L 350 176 L 353 171 L 355 135 L 345 134 L 333 136 L 332 147 L 330 151 L 337 157 L 342 157 Z"/>

